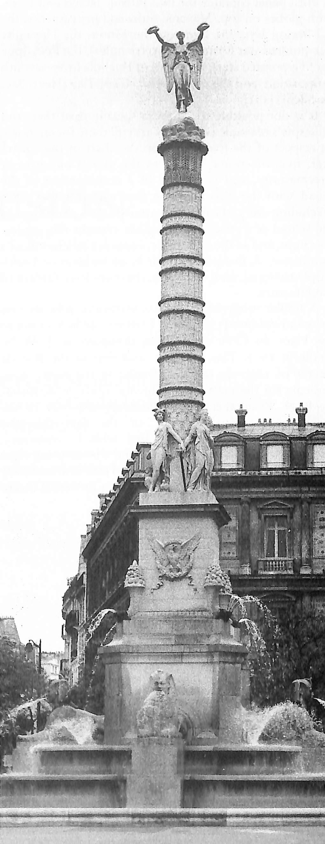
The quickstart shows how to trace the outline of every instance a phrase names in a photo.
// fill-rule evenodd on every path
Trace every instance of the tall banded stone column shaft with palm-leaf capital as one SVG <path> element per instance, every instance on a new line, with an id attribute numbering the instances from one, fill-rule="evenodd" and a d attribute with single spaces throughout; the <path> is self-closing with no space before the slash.
<path id="1" fill-rule="evenodd" d="M 203 408 L 203 187 L 201 163 L 208 147 L 191 117 L 162 129 L 164 214 L 161 218 L 159 407 L 185 436 Z"/>

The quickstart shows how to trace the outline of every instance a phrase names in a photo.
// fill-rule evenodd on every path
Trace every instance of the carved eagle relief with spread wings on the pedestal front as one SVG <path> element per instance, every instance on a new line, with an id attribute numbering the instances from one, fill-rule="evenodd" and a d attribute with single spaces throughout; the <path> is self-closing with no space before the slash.
<path id="1" fill-rule="evenodd" d="M 151 536 L 148 538 L 149 544 L 154 551 L 157 569 L 160 575 L 154 589 L 160 589 L 164 585 L 164 577 L 170 581 L 187 577 L 188 582 L 193 586 L 192 576 L 190 575 L 192 569 L 192 553 L 198 547 L 201 539 L 199 533 L 195 533 L 191 539 L 186 539 L 185 542 L 180 542 L 179 539 L 171 539 L 165 545 L 159 539 L 154 539 Z"/>

